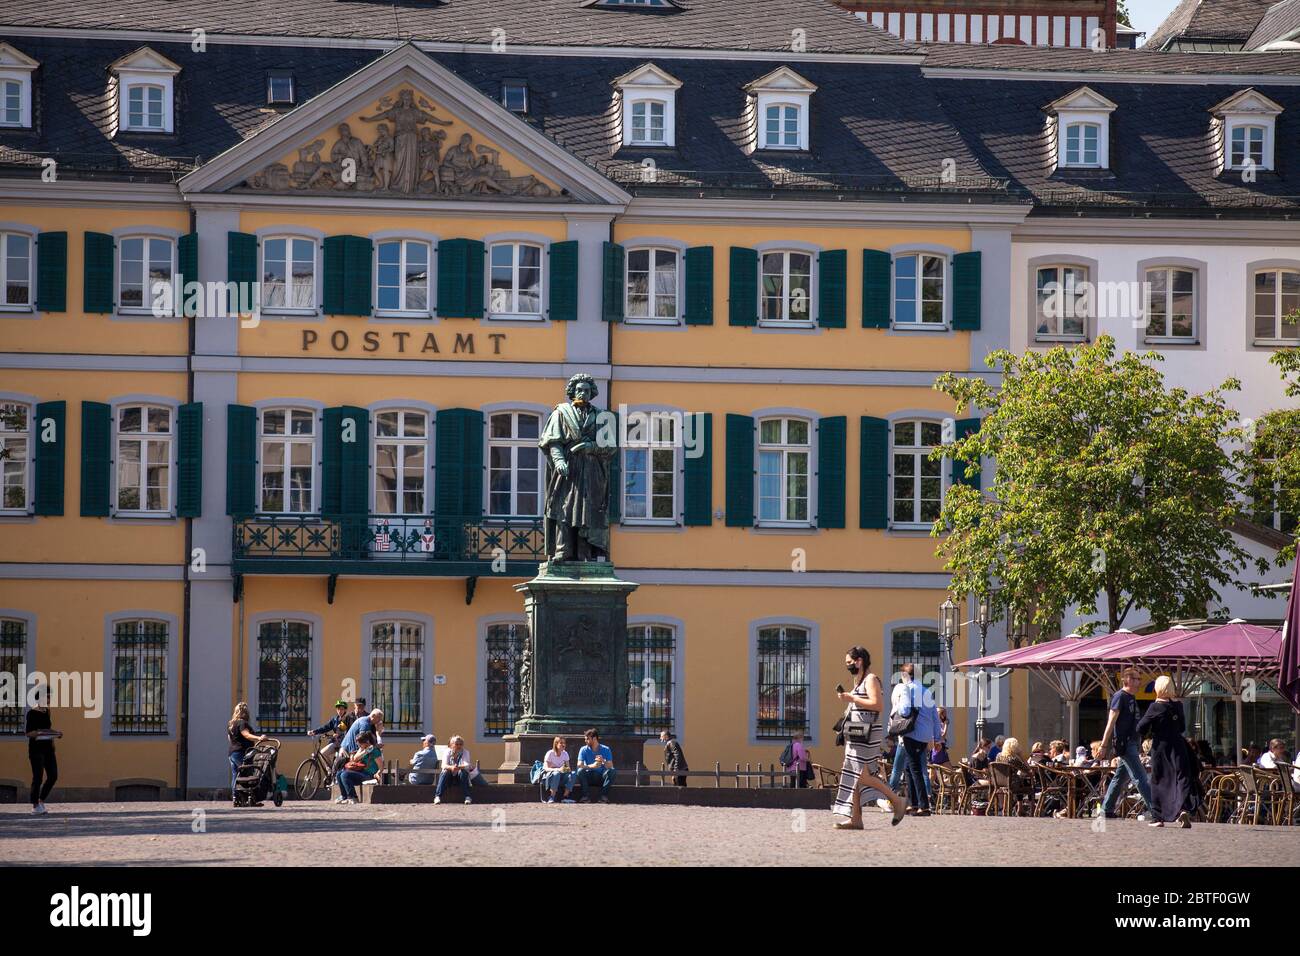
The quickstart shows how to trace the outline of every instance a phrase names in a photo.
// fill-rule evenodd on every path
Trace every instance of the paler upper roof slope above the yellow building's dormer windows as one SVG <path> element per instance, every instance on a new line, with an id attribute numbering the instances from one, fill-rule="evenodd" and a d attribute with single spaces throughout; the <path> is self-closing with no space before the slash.
<path id="1" fill-rule="evenodd" d="M 216 34 L 416 39 L 508 44 L 789 49 L 802 30 L 811 52 L 897 53 L 909 44 L 831 0 L 681 0 L 660 13 L 602 9 L 582 0 L 40 0 L 9 3 L 5 26 Z M 178 36 L 181 39 L 182 36 Z"/>

